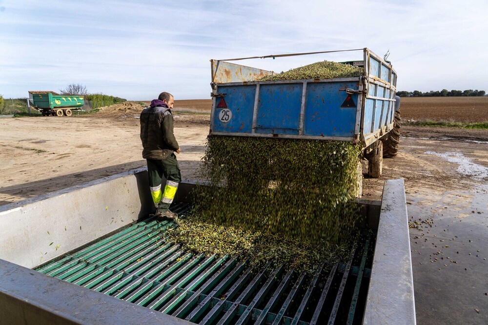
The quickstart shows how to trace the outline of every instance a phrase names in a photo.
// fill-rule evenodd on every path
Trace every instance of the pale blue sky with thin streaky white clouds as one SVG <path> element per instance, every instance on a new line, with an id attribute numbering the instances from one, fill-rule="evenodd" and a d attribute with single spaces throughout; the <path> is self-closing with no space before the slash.
<path id="1" fill-rule="evenodd" d="M 486 0 L 0 0 L 0 94 L 210 98 L 210 59 L 367 47 L 397 90 L 488 92 Z M 287 71 L 361 51 L 237 61 Z"/>

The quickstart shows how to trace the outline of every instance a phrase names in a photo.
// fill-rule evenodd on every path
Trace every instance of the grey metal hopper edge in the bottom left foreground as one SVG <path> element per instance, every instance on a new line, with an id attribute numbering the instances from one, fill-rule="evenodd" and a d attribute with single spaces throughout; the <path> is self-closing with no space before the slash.
<path id="1" fill-rule="evenodd" d="M 1 259 L 0 306 L 5 324 L 193 324 Z"/>

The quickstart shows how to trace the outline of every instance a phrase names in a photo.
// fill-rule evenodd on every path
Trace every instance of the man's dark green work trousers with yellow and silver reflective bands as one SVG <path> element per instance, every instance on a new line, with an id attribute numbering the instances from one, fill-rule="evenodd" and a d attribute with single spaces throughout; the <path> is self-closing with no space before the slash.
<path id="1" fill-rule="evenodd" d="M 169 206 L 175 198 L 178 185 L 182 181 L 178 160 L 174 153 L 166 159 L 146 159 L 147 174 L 149 175 L 149 187 L 157 212 L 169 210 Z M 166 179 L 164 189 L 161 188 L 163 176 Z"/>

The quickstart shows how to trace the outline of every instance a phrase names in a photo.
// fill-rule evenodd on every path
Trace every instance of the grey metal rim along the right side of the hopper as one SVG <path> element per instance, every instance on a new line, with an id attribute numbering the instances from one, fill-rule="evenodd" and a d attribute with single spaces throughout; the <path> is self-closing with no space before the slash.
<path id="1" fill-rule="evenodd" d="M 416 324 L 403 178 L 385 181 L 363 324 Z"/>

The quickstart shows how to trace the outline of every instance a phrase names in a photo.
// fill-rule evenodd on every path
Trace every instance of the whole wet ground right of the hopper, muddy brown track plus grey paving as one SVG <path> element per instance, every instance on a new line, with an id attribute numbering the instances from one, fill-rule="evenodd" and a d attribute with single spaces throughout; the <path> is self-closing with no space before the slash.
<path id="1" fill-rule="evenodd" d="M 417 323 L 488 324 L 488 143 L 401 143 L 382 178 L 405 178 Z"/>

